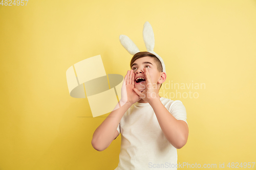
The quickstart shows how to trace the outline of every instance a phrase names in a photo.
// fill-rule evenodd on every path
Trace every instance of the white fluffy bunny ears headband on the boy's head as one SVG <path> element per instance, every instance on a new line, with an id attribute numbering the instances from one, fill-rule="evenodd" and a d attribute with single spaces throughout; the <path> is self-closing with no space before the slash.
<path id="1" fill-rule="evenodd" d="M 135 55 L 136 53 L 140 52 L 139 48 L 135 45 L 135 43 L 126 35 L 120 35 L 119 39 L 123 47 L 131 55 Z M 146 45 L 147 52 L 154 54 L 160 60 L 163 67 L 163 72 L 165 72 L 165 65 L 164 65 L 163 59 L 154 52 L 154 46 L 155 46 L 154 32 L 153 32 L 153 28 L 150 25 L 150 22 L 147 22 L 147 21 L 144 23 L 143 40 Z"/>

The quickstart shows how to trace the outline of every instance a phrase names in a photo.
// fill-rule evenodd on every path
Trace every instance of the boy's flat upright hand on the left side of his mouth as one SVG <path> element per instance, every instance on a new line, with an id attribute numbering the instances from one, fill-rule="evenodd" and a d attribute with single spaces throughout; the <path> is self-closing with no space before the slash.
<path id="1" fill-rule="evenodd" d="M 141 99 L 139 95 L 136 94 L 136 92 L 133 90 L 135 88 L 134 77 L 135 74 L 133 70 L 128 70 L 123 80 L 120 102 L 133 105 Z"/>

